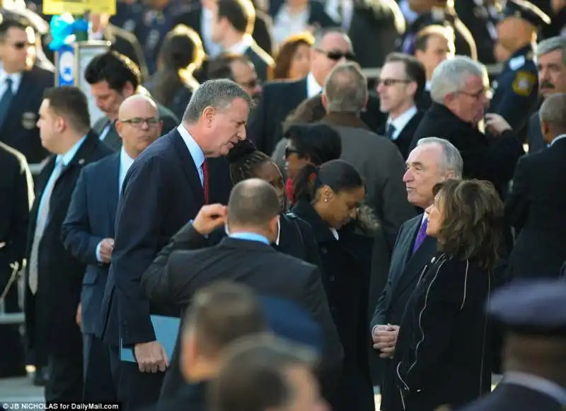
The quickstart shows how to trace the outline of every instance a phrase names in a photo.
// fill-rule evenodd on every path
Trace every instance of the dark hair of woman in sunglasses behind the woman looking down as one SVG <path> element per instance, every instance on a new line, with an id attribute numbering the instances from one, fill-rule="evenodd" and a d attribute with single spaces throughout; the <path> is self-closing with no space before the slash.
<path id="1" fill-rule="evenodd" d="M 299 158 L 308 158 L 315 166 L 342 155 L 340 134 L 328 125 L 293 125 L 287 129 L 285 137 L 291 141 Z"/>

